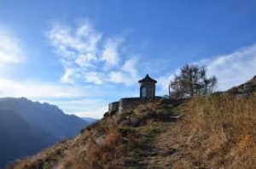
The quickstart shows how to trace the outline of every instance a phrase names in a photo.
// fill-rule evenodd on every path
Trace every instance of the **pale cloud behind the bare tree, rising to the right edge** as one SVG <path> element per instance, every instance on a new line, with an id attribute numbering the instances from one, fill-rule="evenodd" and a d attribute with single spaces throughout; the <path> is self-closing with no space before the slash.
<path id="1" fill-rule="evenodd" d="M 217 89 L 227 90 L 256 75 L 256 45 L 238 49 L 231 54 L 218 55 L 213 59 L 199 60 L 193 64 L 206 65 L 207 74 L 218 78 Z M 174 73 L 158 78 L 160 87 L 163 89 L 162 93 L 167 93 L 168 84 L 173 78 Z"/>

